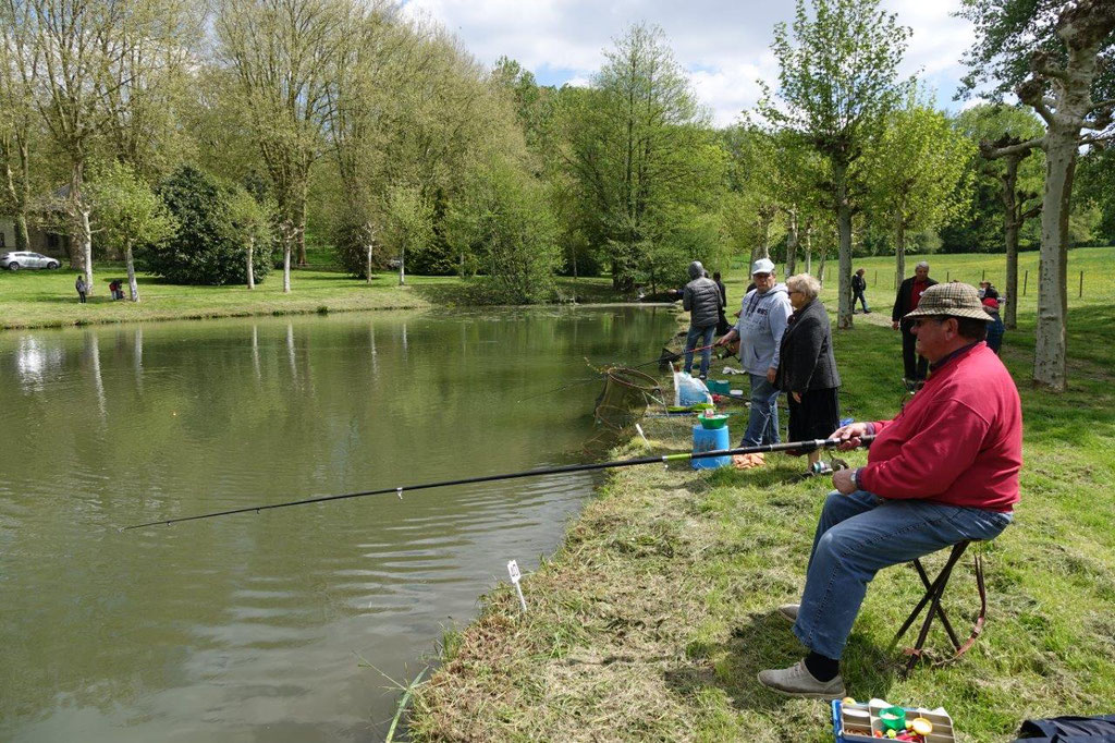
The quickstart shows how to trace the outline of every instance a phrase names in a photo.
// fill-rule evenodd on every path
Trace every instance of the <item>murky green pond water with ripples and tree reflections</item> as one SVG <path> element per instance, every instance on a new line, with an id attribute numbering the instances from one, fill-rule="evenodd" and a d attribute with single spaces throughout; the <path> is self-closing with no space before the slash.
<path id="1" fill-rule="evenodd" d="M 382 740 L 442 633 L 561 542 L 590 475 L 120 531 L 584 461 L 595 364 L 665 309 L 0 334 L 0 740 Z"/>

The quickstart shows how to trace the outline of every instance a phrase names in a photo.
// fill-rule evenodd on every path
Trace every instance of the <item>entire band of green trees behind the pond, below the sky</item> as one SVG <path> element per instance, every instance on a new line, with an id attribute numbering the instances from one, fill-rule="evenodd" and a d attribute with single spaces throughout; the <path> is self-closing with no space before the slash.
<path id="1" fill-rule="evenodd" d="M 249 286 L 281 257 L 290 291 L 308 233 L 369 281 L 458 273 L 520 302 L 558 273 L 657 292 L 695 259 L 836 258 L 841 328 L 855 254 L 902 278 L 911 250 L 1002 251 L 1014 297 L 1019 245 L 1040 245 L 1035 378 L 1060 388 L 1066 250 L 1115 238 L 1115 9 L 960 15 L 962 93 L 990 104 L 950 116 L 901 78 L 911 31 L 878 0 L 798 0 L 777 79 L 718 128 L 648 25 L 553 87 L 390 0 L 0 0 L 0 213 L 17 248 L 56 224 L 90 286 L 94 251 L 123 258 L 133 299 L 134 254 Z"/>

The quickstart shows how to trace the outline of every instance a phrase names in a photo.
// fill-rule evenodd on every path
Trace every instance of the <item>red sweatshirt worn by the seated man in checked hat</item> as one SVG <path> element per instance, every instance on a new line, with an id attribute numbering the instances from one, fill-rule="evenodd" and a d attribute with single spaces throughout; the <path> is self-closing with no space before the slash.
<path id="1" fill-rule="evenodd" d="M 1021 402 L 986 342 L 946 361 L 898 417 L 874 426 L 863 490 L 992 511 L 1018 502 Z"/>

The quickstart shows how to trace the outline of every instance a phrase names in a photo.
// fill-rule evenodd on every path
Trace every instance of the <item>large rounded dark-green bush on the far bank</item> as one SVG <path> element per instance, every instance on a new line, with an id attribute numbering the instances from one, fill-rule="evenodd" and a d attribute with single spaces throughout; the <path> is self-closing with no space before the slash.
<path id="1" fill-rule="evenodd" d="M 243 212 L 232 206 L 237 192 L 193 166 L 183 165 L 158 184 L 157 193 L 178 222 L 173 238 L 144 251 L 144 263 L 172 283 L 245 283 L 248 232 Z M 242 204 L 240 206 L 242 209 Z M 271 270 L 268 243 L 252 253 L 253 280 Z"/>

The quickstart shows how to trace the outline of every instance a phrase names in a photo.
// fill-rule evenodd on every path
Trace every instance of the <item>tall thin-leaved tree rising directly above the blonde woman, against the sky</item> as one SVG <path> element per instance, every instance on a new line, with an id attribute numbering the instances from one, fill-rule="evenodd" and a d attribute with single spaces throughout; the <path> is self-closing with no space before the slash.
<path id="1" fill-rule="evenodd" d="M 862 155 L 898 106 L 898 65 L 910 30 L 879 0 L 797 0 L 793 26 L 775 27 L 778 90 L 765 83 L 759 112 L 827 160 L 830 208 L 840 233 L 837 327 L 852 327 L 852 216 L 866 192 Z"/>

